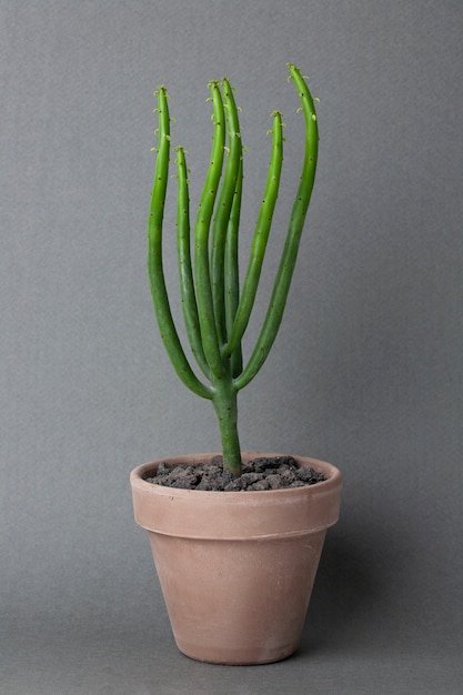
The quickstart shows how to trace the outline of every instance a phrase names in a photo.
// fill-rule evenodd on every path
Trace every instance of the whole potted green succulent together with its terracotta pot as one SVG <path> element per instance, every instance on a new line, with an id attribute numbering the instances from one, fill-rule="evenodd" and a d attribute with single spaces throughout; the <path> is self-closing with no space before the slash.
<path id="1" fill-rule="evenodd" d="M 131 486 L 135 521 L 149 532 L 177 645 L 188 656 L 210 663 L 269 663 L 296 649 L 325 532 L 336 522 L 340 507 L 338 469 L 293 456 L 289 465 L 291 469 L 294 463 L 295 472 L 288 473 L 286 466 L 284 480 L 280 477 L 275 484 L 275 473 L 288 457 L 242 452 L 236 430 L 238 392 L 261 369 L 280 328 L 315 177 L 319 134 L 314 101 L 300 70 L 293 64 L 288 69 L 304 114 L 305 153 L 269 310 L 248 361 L 241 342 L 279 191 L 282 114 L 272 114 L 270 169 L 241 291 L 238 230 L 243 148 L 239 109 L 227 79 L 209 83 L 213 140 L 193 240 L 185 151 L 175 149 L 180 292 L 188 339 L 202 376 L 193 371 L 181 345 L 164 281 L 161 246 L 171 119 L 165 87 L 155 92 L 159 127 L 148 233 L 153 305 L 178 375 L 195 394 L 212 402 L 222 452 L 219 460 L 212 453 L 189 454 L 143 464 L 132 471 Z M 266 459 L 271 473 L 258 474 L 256 467 L 264 467 Z M 224 491 L 204 485 L 209 479 L 203 470 L 195 474 L 201 481 L 199 488 L 188 488 L 188 466 L 199 464 L 220 470 Z M 174 474 L 173 487 L 159 484 L 160 472 Z M 239 481 L 245 476 L 254 481 L 253 486 L 240 491 Z M 321 482 L 308 485 L 308 476 Z"/>

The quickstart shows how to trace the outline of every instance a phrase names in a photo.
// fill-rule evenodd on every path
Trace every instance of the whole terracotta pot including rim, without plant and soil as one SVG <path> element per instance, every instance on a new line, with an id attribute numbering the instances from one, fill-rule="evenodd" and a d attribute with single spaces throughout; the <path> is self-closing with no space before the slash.
<path id="1" fill-rule="evenodd" d="M 207 462 L 214 454 L 164 459 Z M 243 461 L 256 456 L 243 452 Z M 299 645 L 342 479 L 329 463 L 315 485 L 265 492 L 173 490 L 147 483 L 158 462 L 131 473 L 135 521 L 151 548 L 179 649 L 217 664 L 265 664 Z"/>

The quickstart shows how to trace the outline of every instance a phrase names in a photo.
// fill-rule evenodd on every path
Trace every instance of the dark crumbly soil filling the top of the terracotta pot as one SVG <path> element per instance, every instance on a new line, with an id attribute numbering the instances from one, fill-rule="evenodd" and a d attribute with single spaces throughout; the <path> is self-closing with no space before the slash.
<path id="1" fill-rule="evenodd" d="M 313 469 L 299 467 L 292 456 L 254 459 L 243 465 L 240 477 L 234 477 L 222 467 L 222 456 L 214 456 L 211 463 L 172 465 L 160 463 L 157 475 L 147 482 L 181 490 L 204 490 L 217 492 L 241 492 L 303 487 L 326 480 L 323 473 Z"/>

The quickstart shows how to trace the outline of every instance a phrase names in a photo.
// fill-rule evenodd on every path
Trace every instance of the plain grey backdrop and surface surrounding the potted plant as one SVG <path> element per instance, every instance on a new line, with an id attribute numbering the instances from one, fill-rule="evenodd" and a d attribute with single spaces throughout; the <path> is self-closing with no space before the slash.
<path id="1" fill-rule="evenodd" d="M 461 0 L 0 11 L 1 694 L 460 693 Z M 175 649 L 128 482 L 144 461 L 219 446 L 152 315 L 152 91 L 169 87 L 195 201 L 205 84 L 236 84 L 244 254 L 270 112 L 284 111 L 270 281 L 301 162 L 286 61 L 321 99 L 320 168 L 281 334 L 241 395 L 241 439 L 331 461 L 345 490 L 300 652 L 217 667 Z"/>

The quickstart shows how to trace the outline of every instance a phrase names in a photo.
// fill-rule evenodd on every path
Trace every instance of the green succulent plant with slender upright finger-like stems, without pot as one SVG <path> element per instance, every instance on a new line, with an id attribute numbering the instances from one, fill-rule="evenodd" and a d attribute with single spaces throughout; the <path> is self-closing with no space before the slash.
<path id="1" fill-rule="evenodd" d="M 192 353 L 204 379 L 193 372 L 172 319 L 163 264 L 162 224 L 169 181 L 170 115 L 164 85 L 154 92 L 159 117 L 154 183 L 148 224 L 148 269 L 154 311 L 164 346 L 182 380 L 195 394 L 212 401 L 222 437 L 223 467 L 241 472 L 236 429 L 236 395 L 264 363 L 280 328 L 299 242 L 312 193 L 318 155 L 318 125 L 312 95 L 300 70 L 288 64 L 305 120 L 305 153 L 286 240 L 266 316 L 255 348 L 243 365 L 241 341 L 258 290 L 283 161 L 283 123 L 272 113 L 272 152 L 265 191 L 240 292 L 238 231 L 243 181 L 243 148 L 238 108 L 229 80 L 209 83 L 213 139 L 210 164 L 198 208 L 193 241 L 190 235 L 189 180 L 183 148 L 175 148 L 178 207 L 177 245 L 184 323 Z M 228 132 L 227 132 L 228 131 Z M 194 253 L 192 258 L 192 248 Z"/>

